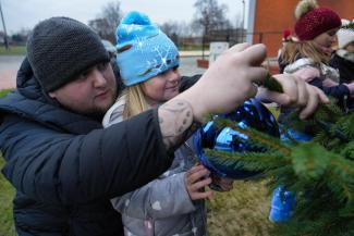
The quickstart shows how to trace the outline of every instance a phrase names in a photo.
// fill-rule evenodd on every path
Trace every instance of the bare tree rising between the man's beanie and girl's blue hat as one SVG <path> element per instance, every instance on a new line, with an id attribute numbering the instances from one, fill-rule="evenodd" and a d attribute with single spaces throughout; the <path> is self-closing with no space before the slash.
<path id="1" fill-rule="evenodd" d="M 96 33 L 111 42 L 115 41 L 115 28 L 122 18 L 120 1 L 108 2 L 102 12 L 95 20 L 88 22 L 88 25 L 96 30 Z"/>

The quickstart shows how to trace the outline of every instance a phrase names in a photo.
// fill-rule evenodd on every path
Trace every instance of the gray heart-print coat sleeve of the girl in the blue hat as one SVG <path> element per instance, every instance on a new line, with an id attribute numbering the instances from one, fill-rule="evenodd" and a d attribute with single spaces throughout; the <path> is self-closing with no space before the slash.
<path id="1" fill-rule="evenodd" d="M 185 172 L 156 179 L 122 197 L 111 199 L 114 209 L 136 219 L 164 219 L 195 211 L 184 184 Z"/>

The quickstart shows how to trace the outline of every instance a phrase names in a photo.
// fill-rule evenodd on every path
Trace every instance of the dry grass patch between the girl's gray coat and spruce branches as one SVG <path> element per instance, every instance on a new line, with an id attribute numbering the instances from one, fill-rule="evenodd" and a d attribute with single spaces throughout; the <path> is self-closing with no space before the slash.
<path id="1" fill-rule="evenodd" d="M 234 183 L 230 192 L 207 201 L 210 236 L 270 236 L 270 196 L 263 182 Z"/>

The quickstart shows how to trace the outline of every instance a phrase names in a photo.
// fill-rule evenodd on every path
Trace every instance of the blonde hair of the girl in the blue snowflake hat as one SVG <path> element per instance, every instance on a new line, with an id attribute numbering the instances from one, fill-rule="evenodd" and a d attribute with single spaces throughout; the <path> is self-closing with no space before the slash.
<path id="1" fill-rule="evenodd" d="M 123 120 L 137 115 L 149 109 L 141 84 L 133 85 L 125 89 L 125 105 L 123 110 Z"/>

